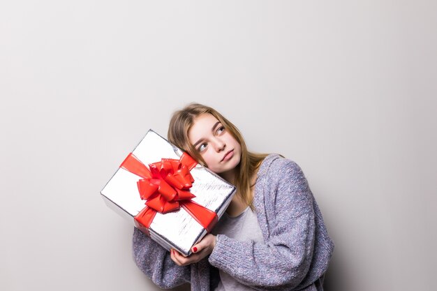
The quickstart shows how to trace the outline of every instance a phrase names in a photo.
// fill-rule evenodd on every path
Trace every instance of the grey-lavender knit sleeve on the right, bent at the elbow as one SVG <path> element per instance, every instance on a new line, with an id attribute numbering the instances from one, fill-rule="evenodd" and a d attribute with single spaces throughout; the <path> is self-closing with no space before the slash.
<path id="1" fill-rule="evenodd" d="M 269 232 L 267 240 L 236 241 L 218 235 L 209 262 L 258 290 L 294 290 L 312 260 L 313 197 L 302 170 L 292 161 L 277 159 L 263 180 L 259 191 L 265 205 L 256 211 L 265 211 L 267 227 L 261 229 Z"/>

